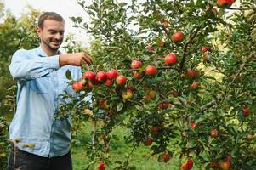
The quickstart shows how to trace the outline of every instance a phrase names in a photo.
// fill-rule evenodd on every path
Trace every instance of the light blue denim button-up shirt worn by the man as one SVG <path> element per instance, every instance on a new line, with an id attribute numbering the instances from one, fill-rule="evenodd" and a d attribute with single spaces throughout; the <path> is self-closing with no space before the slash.
<path id="1" fill-rule="evenodd" d="M 9 66 L 18 84 L 17 110 L 9 126 L 11 140 L 26 152 L 43 156 L 63 156 L 71 148 L 70 117 L 55 119 L 60 104 L 66 101 L 64 91 L 75 95 L 65 77 L 71 71 L 73 80 L 82 76 L 81 68 L 60 67 L 59 55 L 47 56 L 41 47 L 20 49 L 13 55 Z"/>

